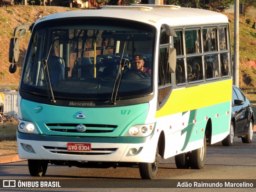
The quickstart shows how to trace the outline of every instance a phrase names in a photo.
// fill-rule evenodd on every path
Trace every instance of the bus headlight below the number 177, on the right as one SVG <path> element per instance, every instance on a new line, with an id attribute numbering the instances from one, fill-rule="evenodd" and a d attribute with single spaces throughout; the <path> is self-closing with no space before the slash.
<path id="1" fill-rule="evenodd" d="M 125 137 L 136 136 L 136 137 L 146 137 L 149 136 L 154 130 L 155 124 L 142 124 L 131 126 L 124 135 Z"/>

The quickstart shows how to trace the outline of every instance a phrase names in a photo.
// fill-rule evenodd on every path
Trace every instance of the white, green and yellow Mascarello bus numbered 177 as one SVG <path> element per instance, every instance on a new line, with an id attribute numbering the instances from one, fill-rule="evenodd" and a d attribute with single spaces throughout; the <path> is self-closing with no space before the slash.
<path id="1" fill-rule="evenodd" d="M 52 14 L 15 28 L 12 73 L 26 31 L 17 142 L 31 176 L 44 176 L 50 163 L 138 166 L 152 179 L 160 156 L 175 156 L 177 168 L 201 169 L 206 142 L 228 136 L 225 15 L 164 5 Z"/>

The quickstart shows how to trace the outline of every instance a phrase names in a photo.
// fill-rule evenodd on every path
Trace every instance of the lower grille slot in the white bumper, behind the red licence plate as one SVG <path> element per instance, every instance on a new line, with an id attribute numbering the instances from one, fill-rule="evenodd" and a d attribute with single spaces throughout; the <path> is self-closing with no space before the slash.
<path id="1" fill-rule="evenodd" d="M 112 154 L 118 150 L 118 148 L 92 148 L 88 152 L 75 152 L 68 151 L 66 147 L 52 147 L 52 146 L 43 146 L 45 150 L 48 150 L 52 153 L 58 154 L 72 154 L 72 155 L 106 155 Z"/>

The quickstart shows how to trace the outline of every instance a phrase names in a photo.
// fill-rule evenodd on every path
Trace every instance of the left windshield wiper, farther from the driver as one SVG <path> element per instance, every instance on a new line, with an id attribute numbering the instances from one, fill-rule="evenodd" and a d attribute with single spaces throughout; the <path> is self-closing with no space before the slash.
<path id="1" fill-rule="evenodd" d="M 45 84 L 46 84 L 46 88 L 47 88 L 47 95 L 48 95 L 49 100 L 52 103 L 56 103 L 56 100 L 54 99 L 53 90 L 52 90 L 51 78 L 50 78 L 50 74 L 49 74 L 47 61 L 48 61 L 48 57 L 42 59 Z"/>

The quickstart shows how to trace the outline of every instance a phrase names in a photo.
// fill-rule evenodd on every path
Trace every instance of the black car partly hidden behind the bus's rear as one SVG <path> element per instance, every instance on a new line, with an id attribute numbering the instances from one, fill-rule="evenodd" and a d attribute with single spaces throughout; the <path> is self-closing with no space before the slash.
<path id="1" fill-rule="evenodd" d="M 254 113 L 249 100 L 237 86 L 232 86 L 232 112 L 230 134 L 222 140 L 223 146 L 232 146 L 234 137 L 243 143 L 251 143 L 253 137 Z"/>

